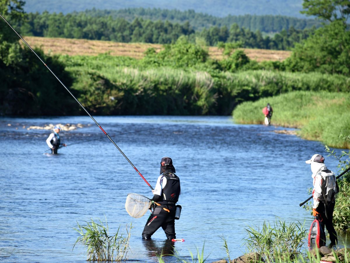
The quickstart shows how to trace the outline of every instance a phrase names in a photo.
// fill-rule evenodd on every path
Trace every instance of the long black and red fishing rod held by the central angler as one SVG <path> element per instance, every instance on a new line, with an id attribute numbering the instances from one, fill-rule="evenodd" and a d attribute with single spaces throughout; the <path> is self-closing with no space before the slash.
<path id="1" fill-rule="evenodd" d="M 56 77 L 56 79 L 59 81 L 59 83 L 62 84 L 62 86 L 69 92 L 70 95 L 79 103 L 79 105 L 85 110 L 87 115 L 90 116 L 90 118 L 96 123 L 96 125 L 103 131 L 103 133 L 110 139 L 110 141 L 114 144 L 115 147 L 120 151 L 120 153 L 125 157 L 125 159 L 131 164 L 131 166 L 137 171 L 137 173 L 141 176 L 142 179 L 147 183 L 147 185 L 151 188 L 151 190 L 154 190 L 151 184 L 147 182 L 145 177 L 139 172 L 139 170 L 134 166 L 134 164 L 126 157 L 126 155 L 123 153 L 123 151 L 118 147 L 118 145 L 112 140 L 112 138 L 105 132 L 105 130 L 98 124 L 98 122 L 90 115 L 90 113 L 84 108 L 84 106 L 77 100 L 77 98 L 70 92 L 70 90 L 62 83 L 60 79 L 55 75 L 55 73 L 52 72 L 52 70 L 46 65 L 46 63 L 38 56 L 35 51 L 28 45 L 28 43 L 20 36 L 20 34 L 17 33 L 17 31 L 7 22 L 7 20 L 0 14 L 1 18 L 9 25 L 10 28 L 22 39 L 22 41 L 29 47 L 29 49 L 37 56 L 37 58 L 47 67 L 47 69 Z"/>

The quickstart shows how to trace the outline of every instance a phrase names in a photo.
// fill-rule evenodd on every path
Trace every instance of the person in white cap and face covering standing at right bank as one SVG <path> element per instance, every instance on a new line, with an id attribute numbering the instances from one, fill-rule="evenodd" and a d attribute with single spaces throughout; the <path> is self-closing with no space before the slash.
<path id="1" fill-rule="evenodd" d="M 338 183 L 334 173 L 325 166 L 322 155 L 314 154 L 310 160 L 305 162 L 311 164 L 312 178 L 314 179 L 314 188 L 312 190 L 314 200 L 312 206 L 313 216 L 318 216 L 323 232 L 324 226 L 327 228 L 330 239 L 329 247 L 335 248 L 338 238 L 332 221 L 335 197 L 339 191 Z"/>

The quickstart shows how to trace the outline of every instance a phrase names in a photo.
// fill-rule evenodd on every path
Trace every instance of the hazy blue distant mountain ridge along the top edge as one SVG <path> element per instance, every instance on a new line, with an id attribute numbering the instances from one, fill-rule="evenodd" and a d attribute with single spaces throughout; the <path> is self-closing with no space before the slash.
<path id="1" fill-rule="evenodd" d="M 195 12 L 214 16 L 227 15 L 284 15 L 306 18 L 300 14 L 303 0 L 27 0 L 26 12 L 62 12 L 85 11 L 86 9 L 125 9 L 125 8 L 161 8 Z"/>

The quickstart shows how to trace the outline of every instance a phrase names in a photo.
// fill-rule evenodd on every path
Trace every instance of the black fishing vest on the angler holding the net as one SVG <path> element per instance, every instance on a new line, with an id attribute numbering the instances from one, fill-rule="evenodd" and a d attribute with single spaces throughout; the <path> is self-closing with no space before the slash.
<path id="1" fill-rule="evenodd" d="M 159 202 L 162 205 L 175 204 L 179 201 L 180 195 L 180 178 L 174 173 L 163 174 L 167 179 L 165 187 L 162 189 L 162 200 Z"/>

